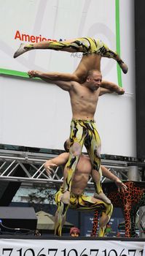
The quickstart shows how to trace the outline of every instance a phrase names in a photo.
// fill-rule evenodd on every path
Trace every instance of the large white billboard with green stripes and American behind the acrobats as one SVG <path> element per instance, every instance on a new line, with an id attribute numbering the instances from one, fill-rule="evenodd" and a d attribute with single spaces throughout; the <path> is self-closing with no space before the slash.
<path id="1" fill-rule="evenodd" d="M 120 51 L 128 74 L 116 61 L 103 58 L 104 80 L 119 83 L 128 94 L 99 99 L 95 120 L 102 154 L 136 157 L 134 21 L 132 0 L 0 0 L 0 73 L 28 69 L 73 72 L 82 53 L 31 50 L 13 59 L 21 42 L 77 37 L 100 38 Z M 13 71 L 12 71 L 13 70 Z M 54 85 L 0 76 L 0 143 L 38 148 L 63 148 L 68 138 L 71 107 L 66 91 Z"/>

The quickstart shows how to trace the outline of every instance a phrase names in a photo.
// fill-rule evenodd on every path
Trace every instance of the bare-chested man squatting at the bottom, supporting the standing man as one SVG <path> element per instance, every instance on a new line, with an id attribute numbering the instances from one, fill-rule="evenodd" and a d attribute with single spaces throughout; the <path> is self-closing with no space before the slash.
<path id="1" fill-rule="evenodd" d="M 64 143 L 64 148 L 66 152 L 60 154 L 58 157 L 47 160 L 45 162 L 44 167 L 47 171 L 48 176 L 51 175 L 51 171 L 54 167 L 66 165 L 66 162 L 68 161 L 69 157 L 69 145 L 69 140 L 66 140 L 66 142 Z M 126 189 L 125 184 L 123 184 L 122 181 L 120 181 L 119 178 L 117 178 L 117 176 L 114 176 L 114 174 L 107 170 L 106 167 L 101 165 L 101 169 L 103 176 L 106 176 L 107 178 L 113 180 L 120 189 Z M 63 176 L 65 180 L 67 176 L 66 169 L 64 169 Z M 64 204 L 61 200 L 65 189 L 65 186 L 63 186 L 64 184 L 62 185 L 62 187 L 60 187 L 60 190 L 57 192 L 55 196 L 55 201 L 58 206 L 57 211 L 55 213 L 55 235 L 61 236 L 61 230 L 64 222 L 66 221 L 66 211 L 68 210 L 68 207 L 79 211 L 101 210 L 102 214 L 100 219 L 100 228 L 98 236 L 101 237 L 104 235 L 104 230 L 106 228 L 106 224 L 109 222 L 109 219 L 111 217 L 113 207 L 111 205 L 111 202 L 110 204 L 106 204 L 103 201 L 96 199 L 95 194 L 94 196 L 88 196 L 84 194 L 84 190 L 87 187 L 87 181 L 89 180 L 90 176 L 92 176 L 93 181 L 95 183 L 96 171 L 92 170 L 90 158 L 86 154 L 81 154 L 72 179 L 69 205 Z"/>

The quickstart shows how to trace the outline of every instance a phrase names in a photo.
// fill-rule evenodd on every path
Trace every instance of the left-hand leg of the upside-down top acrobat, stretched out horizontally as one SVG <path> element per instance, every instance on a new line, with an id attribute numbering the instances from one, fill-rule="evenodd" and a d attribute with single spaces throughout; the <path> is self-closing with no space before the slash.
<path id="1" fill-rule="evenodd" d="M 69 53 L 76 52 L 86 52 L 89 47 L 88 42 L 85 38 L 77 38 L 74 40 L 54 42 L 54 41 L 44 41 L 44 42 L 36 42 L 34 44 L 20 44 L 20 48 L 15 52 L 14 58 L 26 53 L 28 50 L 36 50 L 36 49 L 49 49 L 49 50 L 62 50 Z"/>

